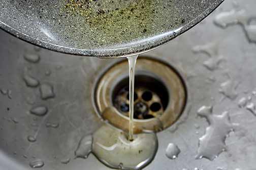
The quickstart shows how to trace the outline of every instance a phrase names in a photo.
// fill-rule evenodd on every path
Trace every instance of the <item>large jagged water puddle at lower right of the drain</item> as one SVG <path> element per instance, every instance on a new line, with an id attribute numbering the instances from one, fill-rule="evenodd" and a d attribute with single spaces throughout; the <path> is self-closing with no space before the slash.
<path id="1" fill-rule="evenodd" d="M 226 150 L 227 135 L 238 125 L 230 122 L 228 112 L 220 115 L 213 114 L 212 106 L 202 106 L 198 110 L 198 115 L 206 118 L 209 126 L 206 128 L 205 135 L 199 139 L 196 159 L 204 157 L 213 160 L 223 152 L 223 149 Z"/>

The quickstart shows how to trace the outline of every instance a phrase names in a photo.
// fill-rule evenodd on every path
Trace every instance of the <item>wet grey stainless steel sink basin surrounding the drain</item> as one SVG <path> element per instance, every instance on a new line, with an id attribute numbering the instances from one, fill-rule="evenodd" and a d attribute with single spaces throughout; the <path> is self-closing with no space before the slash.
<path id="1" fill-rule="evenodd" d="M 239 0 L 237 4 L 227 0 L 194 29 L 144 55 L 178 68 L 186 77 L 188 91 L 185 111 L 174 125 L 157 133 L 158 151 L 145 169 L 256 168 L 256 117 L 253 110 L 238 106 L 243 97 L 248 103 L 256 102 L 256 47 L 249 43 L 242 26 L 223 29 L 213 22 L 218 14 L 234 9 L 256 14 L 255 1 Z M 74 151 L 81 137 L 104 124 L 94 111 L 93 86 L 100 73 L 119 59 L 51 52 L 4 31 L 0 31 L 0 37 L 0 169 L 30 169 L 29 162 L 38 158 L 44 161 L 39 169 L 45 170 L 109 169 L 92 154 L 87 159 L 74 159 Z M 208 53 L 200 52 L 204 49 Z M 40 56 L 39 61 L 35 55 Z M 33 76 L 40 84 L 27 87 L 24 75 Z M 54 97 L 46 90 L 50 97 L 41 99 L 43 84 L 53 87 Z M 225 89 L 225 84 L 230 84 L 229 88 Z M 213 114 L 228 111 L 230 121 L 240 124 L 226 139 L 227 151 L 213 161 L 195 159 L 199 138 L 209 126 L 197 114 L 204 105 L 212 105 Z M 37 106 L 46 106 L 46 115 L 29 112 Z M 36 141 L 29 142 L 28 136 L 36 137 Z M 175 143 L 181 150 L 175 160 L 165 155 L 169 143 Z M 61 163 L 69 158 L 67 164 Z"/>

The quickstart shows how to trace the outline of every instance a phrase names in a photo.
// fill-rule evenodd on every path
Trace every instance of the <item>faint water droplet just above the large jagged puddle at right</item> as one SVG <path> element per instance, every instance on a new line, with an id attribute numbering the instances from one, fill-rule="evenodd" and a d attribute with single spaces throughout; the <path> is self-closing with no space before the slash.
<path id="1" fill-rule="evenodd" d="M 219 92 L 225 95 L 227 98 L 235 100 L 238 95 L 236 92 L 237 86 L 237 82 L 228 80 L 220 84 Z"/>

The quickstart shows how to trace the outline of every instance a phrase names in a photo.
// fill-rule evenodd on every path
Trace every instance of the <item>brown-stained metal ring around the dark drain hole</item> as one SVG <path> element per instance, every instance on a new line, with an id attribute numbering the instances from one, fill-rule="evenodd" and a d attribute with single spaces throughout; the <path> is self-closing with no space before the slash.
<path id="1" fill-rule="evenodd" d="M 126 60 L 111 66 L 97 81 L 93 98 L 94 106 L 99 116 L 116 126 L 116 128 L 126 132 L 129 127 L 129 118 L 114 107 L 113 92 L 117 84 L 127 78 L 127 69 L 128 63 Z M 184 109 L 186 103 L 184 81 L 170 65 L 146 57 L 141 57 L 137 61 L 136 75 L 138 74 L 163 82 L 170 99 L 161 116 L 150 119 L 135 119 L 134 133 L 162 131 L 171 126 Z"/>

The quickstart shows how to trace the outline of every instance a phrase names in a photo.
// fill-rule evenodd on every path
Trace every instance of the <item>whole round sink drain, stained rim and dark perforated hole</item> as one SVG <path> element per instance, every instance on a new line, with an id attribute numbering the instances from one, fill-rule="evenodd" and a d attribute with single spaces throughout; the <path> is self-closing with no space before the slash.
<path id="1" fill-rule="evenodd" d="M 108 68 L 94 88 L 93 103 L 100 117 L 119 129 L 129 128 L 129 73 L 126 60 Z M 138 58 L 135 75 L 134 133 L 162 131 L 181 115 L 186 88 L 167 63 Z"/>

